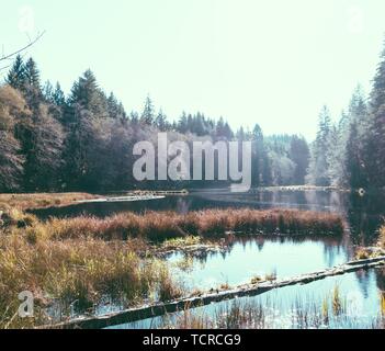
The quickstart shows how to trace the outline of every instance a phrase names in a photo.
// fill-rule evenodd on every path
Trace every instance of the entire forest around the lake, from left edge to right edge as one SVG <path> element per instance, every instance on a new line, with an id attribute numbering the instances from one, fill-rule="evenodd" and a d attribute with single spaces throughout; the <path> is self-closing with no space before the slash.
<path id="1" fill-rule="evenodd" d="M 66 94 L 41 81 L 33 58 L 16 56 L 0 86 L 0 192 L 121 191 L 226 186 L 213 182 L 137 182 L 133 146 L 156 140 L 252 141 L 252 186 L 312 184 L 339 188 L 385 185 L 385 48 L 366 97 L 359 86 L 338 123 L 319 113 L 316 140 L 301 135 L 233 131 L 224 117 L 182 112 L 174 122 L 147 97 L 129 111 L 87 70 Z M 256 113 L 257 115 L 257 113 Z M 313 118 L 314 116 L 308 116 Z"/>

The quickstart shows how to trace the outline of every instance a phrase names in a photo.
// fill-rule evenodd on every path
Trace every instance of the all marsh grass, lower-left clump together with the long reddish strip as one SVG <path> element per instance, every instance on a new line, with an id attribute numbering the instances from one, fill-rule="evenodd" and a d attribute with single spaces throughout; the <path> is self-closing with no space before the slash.
<path id="1" fill-rule="evenodd" d="M 148 252 L 199 245 L 233 234 L 341 234 L 333 214 L 299 211 L 211 210 L 177 213 L 124 213 L 99 219 L 77 217 L 42 222 L 18 208 L 0 223 L 0 327 L 27 327 L 70 317 L 70 312 L 113 302 L 133 306 L 170 301 L 183 294 L 165 262 Z M 144 256 L 144 252 L 147 254 Z M 140 254 L 139 254 L 140 253 Z M 16 318 L 18 294 L 31 291 L 35 318 Z M 57 316 L 59 312 L 59 316 Z M 22 325 L 19 325 L 22 324 Z"/>

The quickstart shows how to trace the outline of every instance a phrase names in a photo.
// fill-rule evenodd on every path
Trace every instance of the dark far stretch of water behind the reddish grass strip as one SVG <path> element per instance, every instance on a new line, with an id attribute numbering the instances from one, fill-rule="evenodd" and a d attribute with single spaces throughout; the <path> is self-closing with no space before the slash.
<path id="1" fill-rule="evenodd" d="M 32 211 L 41 218 L 73 217 L 92 215 L 106 217 L 132 211 L 177 211 L 188 213 L 205 208 L 251 207 L 251 208 L 297 208 L 337 212 L 346 216 L 355 245 L 373 245 L 376 230 L 385 215 L 383 192 L 360 196 L 358 193 L 336 191 L 254 191 L 246 194 L 231 194 L 226 191 L 205 191 L 189 196 L 169 196 L 161 200 L 126 203 L 88 203 L 59 208 Z"/>

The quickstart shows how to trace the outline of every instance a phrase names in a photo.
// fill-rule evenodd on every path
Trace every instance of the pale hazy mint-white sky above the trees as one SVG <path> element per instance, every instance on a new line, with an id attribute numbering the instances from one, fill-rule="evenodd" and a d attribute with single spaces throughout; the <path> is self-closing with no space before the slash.
<path id="1" fill-rule="evenodd" d="M 322 104 L 337 118 L 358 82 L 369 91 L 384 14 L 384 0 L 1 0 L 0 44 L 46 30 L 30 54 L 66 93 L 91 68 L 128 112 L 149 93 L 170 118 L 313 138 Z"/>

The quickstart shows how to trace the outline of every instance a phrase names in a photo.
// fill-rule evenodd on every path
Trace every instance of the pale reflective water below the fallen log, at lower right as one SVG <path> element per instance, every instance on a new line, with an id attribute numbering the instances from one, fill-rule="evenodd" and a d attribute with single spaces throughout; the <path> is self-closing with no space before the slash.
<path id="1" fill-rule="evenodd" d="M 325 303 L 328 303 L 330 320 L 328 328 L 374 328 L 382 318 L 381 292 L 376 287 L 375 276 L 377 271 L 367 273 L 367 291 L 363 295 L 354 273 L 342 276 L 331 276 L 307 285 L 287 286 L 254 297 L 241 297 L 231 302 L 222 302 L 193 310 L 193 315 L 204 318 L 215 318 L 218 313 L 229 310 L 235 304 L 239 306 L 260 306 L 263 310 L 262 328 L 296 328 L 293 325 L 293 315 L 298 313 L 308 322 L 307 328 L 322 328 L 312 325 L 316 314 L 322 315 Z M 341 316 L 332 316 L 333 293 L 338 288 L 346 310 Z M 295 310 L 296 308 L 299 310 Z M 184 314 L 173 314 L 166 317 L 145 319 L 112 327 L 113 329 L 148 329 L 178 326 L 184 319 Z M 335 318 L 332 318 L 335 317 Z M 317 318 L 315 318 L 317 319 Z"/>

